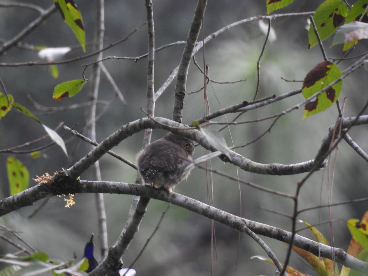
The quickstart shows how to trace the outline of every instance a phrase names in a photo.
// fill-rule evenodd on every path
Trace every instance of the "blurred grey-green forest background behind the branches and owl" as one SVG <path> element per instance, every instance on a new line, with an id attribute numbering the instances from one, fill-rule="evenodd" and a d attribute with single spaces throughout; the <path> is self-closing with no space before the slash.
<path id="1" fill-rule="evenodd" d="M 25 1 L 47 8 L 53 4 L 48 0 Z M 92 42 L 95 30 L 95 1 L 75 0 L 81 11 L 85 29 L 86 42 Z M 185 40 L 190 26 L 194 8 L 197 1 L 153 1 L 155 20 L 156 47 L 164 44 Z M 279 10 L 278 13 L 301 12 L 315 10 L 322 1 L 295 1 L 289 7 Z M 144 1 L 106 0 L 105 1 L 105 45 L 123 38 L 133 28 L 146 20 L 146 8 Z M 265 1 L 209 1 L 205 12 L 205 35 L 208 35 L 232 22 L 242 20 L 255 15 L 265 15 Z M 31 21 L 38 17 L 36 11 L 26 8 L 0 8 L 0 38 L 8 40 L 20 32 Z M 285 82 L 281 77 L 289 80 L 302 80 L 315 64 L 323 61 L 318 46 L 308 50 L 307 29 L 305 28 L 307 17 L 280 18 L 272 21 L 277 34 L 277 40 L 268 43 L 261 60 L 261 84 L 258 98 L 280 95 L 301 87 L 300 82 Z M 208 98 L 211 112 L 220 108 L 215 98 L 215 93 L 222 107 L 240 103 L 244 100 L 251 101 L 256 86 L 256 60 L 259 57 L 265 36 L 258 27 L 258 22 L 244 24 L 218 36 L 206 44 L 206 64 L 209 65 L 210 77 L 217 81 L 236 81 L 246 78 L 246 82 L 237 84 L 213 84 L 208 85 Z M 54 13 L 42 26 L 29 34 L 22 42 L 29 45 L 43 45 L 49 47 L 63 47 L 78 45 L 78 41 L 61 19 L 60 14 Z M 341 46 L 329 49 L 330 40 L 325 43 L 325 49 L 329 57 L 338 58 L 341 55 Z M 366 44 L 358 46 L 355 53 L 364 52 Z M 86 48 L 87 52 L 92 47 Z M 104 52 L 106 56 L 139 56 L 147 51 L 147 29 L 142 27 L 126 42 Z M 183 45 L 167 48 L 157 52 L 155 63 L 155 90 L 166 80 L 171 70 L 180 61 Z M 82 50 L 73 50 L 66 55 L 66 59 L 82 55 Z M 202 62 L 202 53 L 197 54 L 197 61 Z M 36 51 L 13 47 L 0 57 L 1 62 L 21 62 L 40 60 Z M 23 66 L 0 67 L 0 77 L 6 85 L 7 92 L 14 96 L 15 102 L 27 107 L 31 112 L 50 128 L 56 127 L 61 121 L 72 127 L 79 122 L 77 129 L 84 123 L 85 108 L 61 111 L 52 114 L 44 114 L 35 107 L 27 98 L 31 95 L 38 103 L 45 106 L 68 106 L 74 103 L 83 103 L 88 100 L 86 84 L 78 95 L 59 101 L 52 99 L 53 88 L 67 80 L 82 78 L 82 64 L 92 59 L 81 60 L 70 64 L 59 65 L 59 78 L 54 79 L 47 67 Z M 340 69 L 346 68 L 352 60 L 339 64 Z M 127 105 L 119 100 L 107 110 L 97 122 L 98 141 L 115 131 L 120 125 L 129 121 L 144 117 L 141 107 L 146 106 L 146 59 L 135 63 L 131 60 L 106 60 L 106 68 L 110 71 L 118 87 L 123 92 Z M 88 78 L 91 68 L 86 70 Z M 346 78 L 340 100 L 347 97 L 345 116 L 355 116 L 367 99 L 366 80 L 367 72 L 358 70 L 354 75 Z M 188 75 L 187 91 L 197 91 L 203 85 L 203 76 L 194 64 L 191 63 Z M 173 107 L 174 85 L 171 84 L 164 94 L 156 102 L 156 116 L 171 118 Z M 3 92 L 3 91 L 1 91 Z M 215 93 L 214 93 L 215 92 Z M 109 100 L 113 97 L 112 86 L 102 75 L 99 98 Z M 204 115 L 203 92 L 187 95 L 184 107 L 183 123 L 190 123 Z M 251 120 L 262 118 L 285 110 L 302 100 L 302 95 L 294 96 L 266 106 L 261 109 L 245 113 L 238 120 Z M 99 110 L 103 107 L 99 106 Z M 291 164 L 314 158 L 328 127 L 336 121 L 337 110 L 333 106 L 326 112 L 312 116 L 302 121 L 303 110 L 296 110 L 280 118 L 271 132 L 266 134 L 254 144 L 237 149 L 237 152 L 245 157 L 260 163 Z M 227 115 L 227 120 L 234 115 Z M 219 118 L 224 121 L 224 118 Z M 261 123 L 231 126 L 231 135 L 234 145 L 243 145 L 252 141 L 267 130 L 271 121 Z M 213 126 L 214 129 L 220 127 Z M 63 134 L 62 131 L 60 131 Z M 42 127 L 34 123 L 28 117 L 11 112 L 0 120 L 0 148 L 10 148 L 45 134 Z M 152 140 L 164 135 L 161 130 L 153 131 Z M 228 130 L 222 131 L 228 144 L 231 137 Z M 351 137 L 366 151 L 367 127 L 354 127 Z M 135 155 L 141 148 L 143 132 L 121 142 L 113 151 L 125 158 L 135 161 Z M 71 152 L 75 139 L 67 143 Z M 39 144 L 38 144 L 39 145 Z M 39 159 L 31 159 L 25 155 L 17 155 L 29 169 L 31 178 L 46 172 L 53 174 L 61 168 L 70 166 L 88 153 L 88 146 L 81 142 L 77 153 L 72 160 L 68 160 L 60 148 L 54 146 L 44 152 Z M 204 154 L 198 147 L 195 158 Z M 0 155 L 0 197 L 9 195 L 8 180 L 6 174 L 6 158 L 9 155 Z M 330 160 L 331 169 L 333 158 Z M 109 181 L 134 182 L 136 172 L 129 166 L 119 162 L 111 156 L 105 156 L 100 160 L 102 179 Z M 304 175 L 297 176 L 264 176 L 247 173 L 239 170 L 231 164 L 224 164 L 220 160 L 212 161 L 212 168 L 224 171 L 242 180 L 252 181 L 267 188 L 272 188 L 289 194 L 296 191 L 297 181 Z M 336 163 L 333 181 L 333 202 L 345 201 L 367 196 L 367 163 L 364 162 L 346 143 L 339 145 L 339 154 Z M 92 179 L 92 170 L 82 174 L 81 179 Z M 314 174 L 301 190 L 299 208 L 317 206 L 327 203 L 328 171 L 321 170 Z M 210 178 L 206 178 L 205 171 L 195 169 L 187 182 L 181 183 L 175 191 L 207 202 L 208 185 Z M 230 181 L 227 178 L 212 175 L 214 206 L 232 212 L 236 215 L 258 222 L 270 224 L 285 230 L 291 229 L 289 218 L 269 212 L 273 210 L 279 213 L 291 215 L 293 202 L 285 198 L 254 190 L 253 188 Z M 34 185 L 31 181 L 31 185 Z M 241 190 L 241 195 L 240 195 Z M 32 219 L 28 219 L 33 210 L 41 202 L 34 206 L 22 208 L 1 218 L 1 224 L 6 224 L 11 229 L 20 231 L 33 247 L 39 251 L 45 251 L 50 258 L 68 260 L 73 254 L 82 257 L 83 248 L 89 240 L 91 233 L 98 234 L 96 208 L 94 195 L 78 194 L 75 196 L 76 204 L 71 208 L 64 208 L 63 198 L 50 198 L 46 207 L 41 209 Z M 124 225 L 131 196 L 105 195 L 107 212 L 107 226 L 109 229 L 109 245 L 117 239 Z M 127 267 L 137 256 L 142 246 L 155 229 L 156 224 L 166 209 L 167 204 L 152 200 L 148 206 L 148 212 L 142 221 L 138 233 L 135 235 L 127 253 L 123 256 L 124 266 Z M 241 207 L 240 207 L 241 206 Z M 367 203 L 336 206 L 332 209 L 333 236 L 335 246 L 347 249 L 350 242 L 350 234 L 346 227 L 346 220 L 360 218 L 367 209 Z M 302 213 L 298 218 L 311 224 L 318 224 L 329 220 L 326 208 Z M 302 225 L 299 225 L 302 228 Z M 172 206 L 165 216 L 156 235 L 153 237 L 141 258 L 135 264 L 137 275 L 210 275 L 210 229 L 211 221 L 187 210 Z M 245 234 L 238 233 L 226 226 L 215 223 L 216 252 L 213 253 L 213 275 L 274 275 L 276 268 L 258 260 L 250 260 L 254 255 L 266 255 L 258 244 Z M 329 225 L 322 224 L 319 230 L 329 238 Z M 300 232 L 304 236 L 312 238 L 311 234 L 304 230 Z M 275 252 L 280 261 L 284 261 L 286 246 L 278 241 L 264 238 L 265 242 Z M 95 240 L 97 241 L 98 239 Z M 96 244 L 96 257 L 101 256 Z M 0 242 L 0 253 L 14 252 L 15 249 Z M 291 266 L 299 268 L 304 273 L 313 274 L 296 255 L 293 255 Z"/>

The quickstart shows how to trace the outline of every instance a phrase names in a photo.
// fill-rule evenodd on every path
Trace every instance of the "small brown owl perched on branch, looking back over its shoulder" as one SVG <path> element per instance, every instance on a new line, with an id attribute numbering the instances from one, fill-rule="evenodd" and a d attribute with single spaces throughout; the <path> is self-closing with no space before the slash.
<path id="1" fill-rule="evenodd" d="M 138 172 L 146 184 L 172 191 L 189 173 L 184 169 L 192 162 L 191 139 L 169 132 L 137 154 Z"/>

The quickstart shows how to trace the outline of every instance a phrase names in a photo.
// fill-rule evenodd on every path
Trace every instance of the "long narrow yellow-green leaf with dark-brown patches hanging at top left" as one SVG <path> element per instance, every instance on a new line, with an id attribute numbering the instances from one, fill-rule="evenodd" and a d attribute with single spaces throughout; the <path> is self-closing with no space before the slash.
<path id="1" fill-rule="evenodd" d="M 84 52 L 85 49 L 85 31 L 83 26 L 82 15 L 78 10 L 74 0 L 54 0 L 55 6 L 59 10 L 64 21 L 72 28 L 75 36 L 81 43 Z"/>

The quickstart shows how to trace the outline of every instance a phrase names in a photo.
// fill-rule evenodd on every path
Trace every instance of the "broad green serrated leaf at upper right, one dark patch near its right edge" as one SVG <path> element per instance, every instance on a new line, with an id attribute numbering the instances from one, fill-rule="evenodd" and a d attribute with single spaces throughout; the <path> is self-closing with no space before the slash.
<path id="1" fill-rule="evenodd" d="M 347 5 L 340 0 L 326 0 L 315 11 L 313 20 L 316 25 L 321 41 L 328 38 L 335 32 L 337 27 L 343 22 L 347 16 Z M 308 31 L 309 45 L 308 48 L 318 44 L 318 39 L 313 30 L 313 25 L 309 26 Z"/>

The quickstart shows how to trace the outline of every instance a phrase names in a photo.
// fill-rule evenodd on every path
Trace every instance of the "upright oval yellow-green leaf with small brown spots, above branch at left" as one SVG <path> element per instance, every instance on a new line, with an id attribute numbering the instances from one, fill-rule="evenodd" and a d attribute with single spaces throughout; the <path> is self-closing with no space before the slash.
<path id="1" fill-rule="evenodd" d="M 15 195 L 18 192 L 28 188 L 29 172 L 27 168 L 14 157 L 9 157 L 6 161 L 8 171 L 8 180 L 10 185 L 10 195 Z"/>

